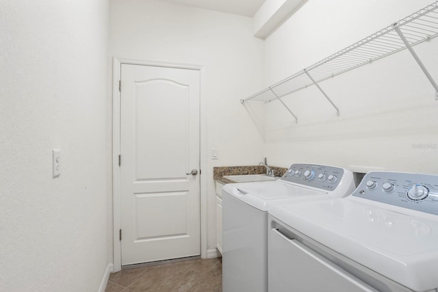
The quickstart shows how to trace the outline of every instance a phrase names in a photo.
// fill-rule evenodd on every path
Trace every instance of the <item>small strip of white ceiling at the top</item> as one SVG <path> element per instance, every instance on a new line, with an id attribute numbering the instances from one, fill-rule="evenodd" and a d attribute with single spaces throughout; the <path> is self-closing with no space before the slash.
<path id="1" fill-rule="evenodd" d="M 253 17 L 265 0 L 159 0 Z"/>

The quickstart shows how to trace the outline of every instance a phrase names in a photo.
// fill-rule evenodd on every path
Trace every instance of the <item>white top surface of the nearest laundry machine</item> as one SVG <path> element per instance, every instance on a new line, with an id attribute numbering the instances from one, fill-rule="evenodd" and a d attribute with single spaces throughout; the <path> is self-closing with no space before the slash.
<path id="1" fill-rule="evenodd" d="M 413 291 L 438 287 L 438 217 L 338 198 L 273 207 L 270 214 Z"/>

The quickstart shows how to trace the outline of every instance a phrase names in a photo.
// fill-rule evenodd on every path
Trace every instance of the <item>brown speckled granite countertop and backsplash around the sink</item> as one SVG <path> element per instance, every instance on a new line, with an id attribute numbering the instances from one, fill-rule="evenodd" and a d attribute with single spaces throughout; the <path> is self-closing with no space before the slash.
<path id="1" fill-rule="evenodd" d="M 278 168 L 276 166 L 270 166 L 272 170 L 275 170 L 275 176 L 283 176 L 287 172 L 287 168 Z M 213 168 L 213 178 L 220 183 L 235 183 L 230 181 L 224 176 L 227 175 L 242 175 L 242 174 L 266 174 L 266 168 L 263 165 L 249 165 L 249 166 L 215 166 Z"/>

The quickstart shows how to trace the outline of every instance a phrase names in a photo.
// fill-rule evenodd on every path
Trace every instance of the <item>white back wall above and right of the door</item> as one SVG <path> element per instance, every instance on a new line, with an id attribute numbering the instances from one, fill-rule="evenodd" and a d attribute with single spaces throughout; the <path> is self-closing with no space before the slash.
<path id="1" fill-rule="evenodd" d="M 162 1 L 110 3 L 110 56 L 205 66 L 208 248 L 216 246 L 215 165 L 252 165 L 263 159 L 263 140 L 240 105 L 263 83 L 263 42 L 251 18 Z M 205 196 L 206 194 L 203 194 Z"/>

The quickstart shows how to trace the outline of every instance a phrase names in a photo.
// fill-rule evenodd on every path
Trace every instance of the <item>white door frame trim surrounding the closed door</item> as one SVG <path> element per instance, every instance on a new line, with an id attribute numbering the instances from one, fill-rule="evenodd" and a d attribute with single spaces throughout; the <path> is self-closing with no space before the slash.
<path id="1" fill-rule="evenodd" d="M 119 83 L 122 64 L 158 66 L 166 68 L 179 68 L 198 70 L 200 73 L 200 96 L 199 96 L 199 167 L 204 170 L 200 176 L 200 214 L 201 214 L 201 258 L 207 258 L 207 116 L 205 101 L 205 66 L 190 64 L 175 64 L 155 61 L 140 61 L 134 59 L 113 58 L 113 80 L 112 80 L 112 214 L 113 214 L 113 263 L 114 271 L 122 269 L 121 242 L 119 230 L 121 228 L 120 211 L 120 168 L 118 166 L 118 155 L 120 154 L 120 91 Z M 123 163 L 123 161 L 122 161 Z"/>

